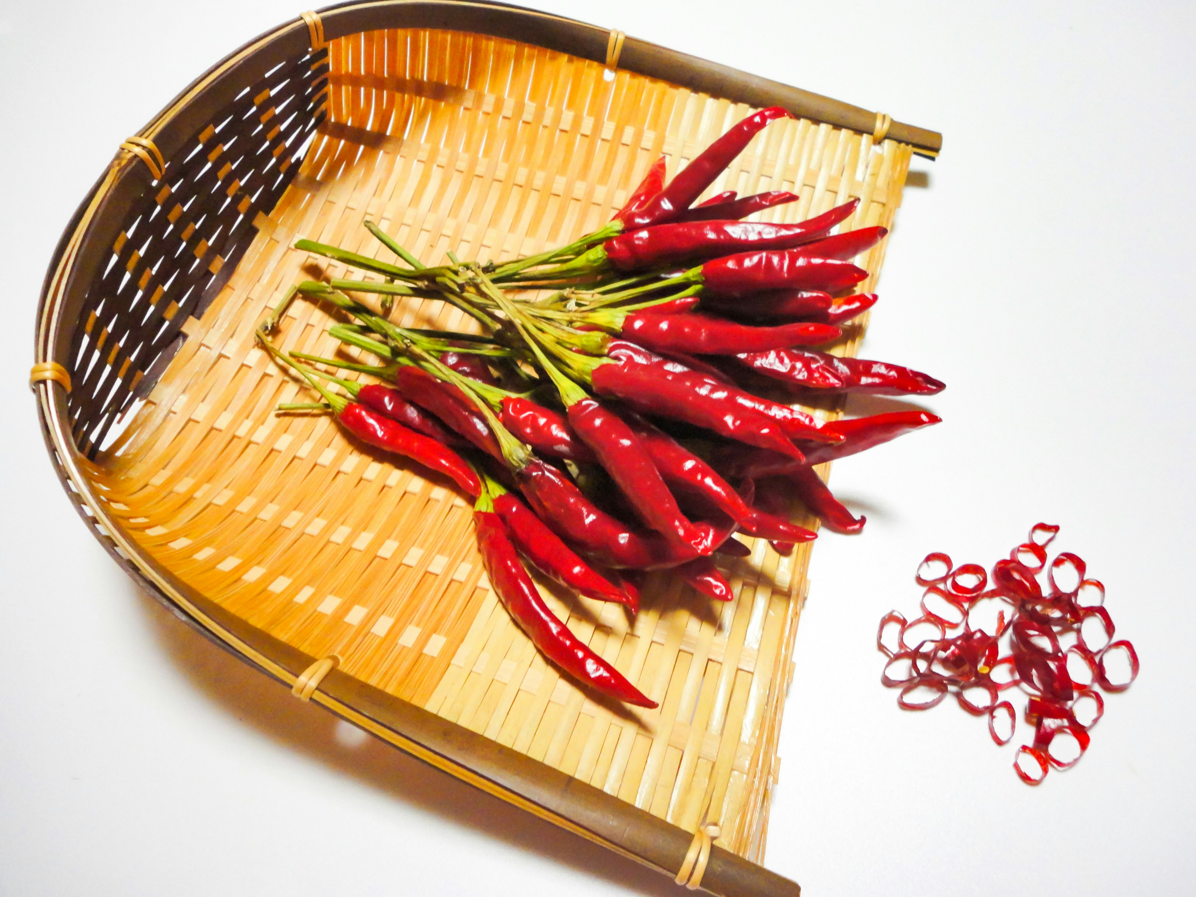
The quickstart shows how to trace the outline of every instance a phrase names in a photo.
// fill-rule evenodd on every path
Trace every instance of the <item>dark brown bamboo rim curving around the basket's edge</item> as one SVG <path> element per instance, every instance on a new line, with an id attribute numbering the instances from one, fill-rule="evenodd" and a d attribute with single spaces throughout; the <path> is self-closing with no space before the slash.
<path id="1" fill-rule="evenodd" d="M 471 0 L 347 2 L 325 7 L 319 16 L 329 39 L 383 28 L 441 28 L 511 38 L 599 63 L 605 61 L 610 35 L 608 29 L 573 19 Z M 214 111 L 213 103 L 222 102 L 224 97 L 216 94 L 230 79 L 243 78 L 246 72 L 264 74 L 276 62 L 307 49 L 309 31 L 301 18 L 260 35 L 195 79 L 138 132 L 139 135 L 154 140 L 164 155 L 171 158 L 202 127 L 203 116 Z M 620 67 L 736 102 L 786 105 L 803 117 L 856 132 L 869 133 L 875 115 L 630 37 L 623 44 Z M 804 105 L 806 103 L 813 105 Z M 826 109 L 838 121 L 811 114 L 810 109 L 818 103 L 831 104 Z M 898 122 L 890 126 L 889 136 L 909 142 L 915 152 L 921 146 L 921 151 L 932 155 L 941 146 L 938 134 Z M 907 139 L 899 140 L 901 136 Z M 123 209 L 153 183 L 139 161 L 127 150 L 118 151 L 59 240 L 38 304 L 36 362 L 65 360 L 63 331 L 69 338 L 69 328 L 75 323 L 72 307 L 78 312 L 98 260 L 111 245 L 106 228 L 118 227 Z M 84 474 L 86 462 L 71 437 L 66 391 L 55 390 L 54 380 L 42 383 L 43 389 L 35 386 L 37 410 L 55 472 L 68 495 L 74 493 L 72 498 L 80 517 L 93 529 L 105 550 L 135 581 L 207 637 L 275 679 L 293 685 L 315 658 L 224 611 L 169 570 L 159 568 L 142 551 L 110 517 Z M 617 853 L 669 874 L 684 861 L 690 832 L 346 673 L 335 670 L 329 673 L 313 700 L 432 765 Z M 703 886 L 716 893 L 800 892 L 794 883 L 720 847 L 712 852 Z"/>

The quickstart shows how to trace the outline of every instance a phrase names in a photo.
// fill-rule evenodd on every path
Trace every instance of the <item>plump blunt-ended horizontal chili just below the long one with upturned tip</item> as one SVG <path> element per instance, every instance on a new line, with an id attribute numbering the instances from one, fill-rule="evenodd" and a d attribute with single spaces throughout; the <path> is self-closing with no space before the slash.
<path id="1" fill-rule="evenodd" d="M 744 297 L 768 289 L 817 289 L 838 293 L 866 280 L 868 273 L 850 262 L 811 258 L 800 250 L 742 252 L 707 262 L 689 279 L 712 293 Z"/>

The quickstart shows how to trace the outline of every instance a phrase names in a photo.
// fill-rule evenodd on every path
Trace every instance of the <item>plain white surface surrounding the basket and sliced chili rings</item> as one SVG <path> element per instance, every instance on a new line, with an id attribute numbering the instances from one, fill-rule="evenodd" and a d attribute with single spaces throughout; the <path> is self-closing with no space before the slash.
<path id="1" fill-rule="evenodd" d="M 541 2 L 945 134 L 865 355 L 946 380 L 946 422 L 835 469 L 869 523 L 814 551 L 767 865 L 810 895 L 1189 891 L 1196 7 Z M 299 10 L 0 4 L 0 893 L 675 893 L 213 647 L 54 478 L 24 382 L 59 234 L 122 139 Z M 899 710 L 873 636 L 927 551 L 989 566 L 1037 520 L 1142 673 L 1032 789 L 982 720 Z"/>

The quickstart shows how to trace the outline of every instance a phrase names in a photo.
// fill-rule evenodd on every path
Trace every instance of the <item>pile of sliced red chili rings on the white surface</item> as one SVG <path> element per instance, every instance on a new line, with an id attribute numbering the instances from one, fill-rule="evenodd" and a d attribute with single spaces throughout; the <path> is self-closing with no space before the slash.
<path id="1" fill-rule="evenodd" d="M 877 633 L 889 658 L 880 681 L 901 689 L 897 703 L 907 710 L 927 710 L 952 694 L 968 713 L 988 716 L 989 734 L 1003 745 L 1013 739 L 1017 712 L 1001 692 L 1017 685 L 1029 695 L 1025 719 L 1035 737 L 1013 762 L 1027 785 L 1041 783 L 1051 767 L 1075 765 L 1104 714 L 1100 689 L 1124 691 L 1139 670 L 1134 646 L 1113 641 L 1105 587 L 1086 579 L 1084 560 L 1064 551 L 1046 563 L 1057 532 L 1036 524 L 991 576 L 980 565 L 952 567 L 945 554 L 927 555 L 916 574 L 926 587 L 922 616 L 907 621 L 890 611 Z M 1049 591 L 1038 581 L 1043 570 Z M 994 610 L 995 620 L 981 621 Z"/>

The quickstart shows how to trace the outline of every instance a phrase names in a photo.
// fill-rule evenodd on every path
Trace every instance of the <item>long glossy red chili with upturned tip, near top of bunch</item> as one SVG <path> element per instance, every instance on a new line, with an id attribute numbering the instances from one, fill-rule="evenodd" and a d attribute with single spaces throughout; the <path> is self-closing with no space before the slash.
<path id="1" fill-rule="evenodd" d="M 706 261 L 719 256 L 757 250 L 793 249 L 803 244 L 825 246 L 826 252 L 842 254 L 853 246 L 874 245 L 884 236 L 884 227 L 853 231 L 852 234 L 826 237 L 830 230 L 855 210 L 855 201 L 825 214 L 798 224 L 768 224 L 751 221 L 681 221 L 621 233 L 606 240 L 603 250 L 612 268 L 621 271 L 676 266 L 682 262 Z M 875 232 L 879 231 L 880 236 Z M 805 248 L 808 255 L 808 246 Z M 818 255 L 837 258 L 838 255 Z"/>

